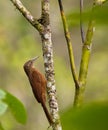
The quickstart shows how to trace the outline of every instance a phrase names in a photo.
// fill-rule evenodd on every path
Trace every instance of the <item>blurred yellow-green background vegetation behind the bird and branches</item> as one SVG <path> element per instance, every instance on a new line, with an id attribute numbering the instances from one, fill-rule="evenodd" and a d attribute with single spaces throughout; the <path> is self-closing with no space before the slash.
<path id="1" fill-rule="evenodd" d="M 39 1 L 32 0 L 31 2 L 30 0 L 22 0 L 22 2 L 34 16 L 37 17 L 40 15 Z M 65 113 L 68 113 L 67 115 L 70 115 L 70 113 L 72 113 L 70 112 L 70 109 L 72 107 L 74 97 L 74 83 L 70 72 L 68 53 L 57 4 L 57 1 L 51 1 L 55 77 L 62 121 L 64 128 L 70 130 L 71 127 L 68 124 L 69 121 L 67 123 L 68 125 L 65 121 L 67 118 L 69 119 L 69 116 L 63 116 L 63 114 L 65 115 Z M 64 6 L 72 35 L 75 61 L 78 66 L 82 47 L 79 21 L 77 17 L 79 11 L 79 1 L 64 0 Z M 86 1 L 85 8 L 88 10 L 91 8 L 90 0 Z M 92 55 L 89 64 L 85 104 L 94 101 L 106 101 L 105 103 L 107 104 L 108 101 L 108 18 L 106 13 L 108 11 L 108 3 L 100 8 L 100 15 L 97 16 L 96 19 L 96 31 L 93 39 Z M 86 24 L 87 21 L 84 24 L 85 30 Z M 21 16 L 10 1 L 1 1 L 0 88 L 7 90 L 20 99 L 25 105 L 28 113 L 27 123 L 23 126 L 18 124 L 10 114 L 10 111 L 7 110 L 6 114 L 0 117 L 0 121 L 7 130 L 47 129 L 48 123 L 44 112 L 42 111 L 41 106 L 35 101 L 30 85 L 23 71 L 23 64 L 25 61 L 36 55 L 41 56 L 36 63 L 36 67 L 44 73 L 41 41 L 38 33 L 35 32 L 34 28 L 32 28 L 31 25 Z M 92 106 L 94 105 L 88 107 Z M 103 107 L 101 110 L 106 113 Z M 64 119 L 64 117 L 66 117 L 66 119 Z M 80 130 L 82 130 L 81 127 Z"/>

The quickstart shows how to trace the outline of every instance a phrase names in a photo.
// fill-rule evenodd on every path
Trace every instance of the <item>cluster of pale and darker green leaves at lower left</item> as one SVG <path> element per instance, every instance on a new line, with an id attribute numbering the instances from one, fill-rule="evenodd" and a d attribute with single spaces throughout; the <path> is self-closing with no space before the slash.
<path id="1" fill-rule="evenodd" d="M 19 123 L 26 123 L 27 113 L 23 104 L 12 94 L 0 89 L 0 117 L 6 114 L 7 108 L 10 109 L 12 115 Z"/>

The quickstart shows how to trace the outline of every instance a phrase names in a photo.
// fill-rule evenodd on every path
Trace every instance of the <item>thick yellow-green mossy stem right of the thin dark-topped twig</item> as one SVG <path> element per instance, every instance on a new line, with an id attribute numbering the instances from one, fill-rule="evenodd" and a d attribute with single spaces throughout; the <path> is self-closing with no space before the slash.
<path id="1" fill-rule="evenodd" d="M 77 88 L 75 92 L 75 100 L 74 100 L 75 107 L 79 107 L 83 103 L 84 90 L 86 86 L 87 73 L 88 73 L 88 65 L 89 65 L 91 47 L 92 47 L 92 38 L 93 38 L 93 33 L 94 33 L 94 28 L 95 28 L 94 18 L 93 18 L 94 8 L 95 8 L 95 3 L 93 4 L 93 7 L 92 7 L 91 17 L 88 24 L 87 34 L 86 34 L 86 39 L 84 41 L 84 45 L 82 48 L 82 56 L 81 56 L 80 71 L 79 71 L 80 87 Z"/>

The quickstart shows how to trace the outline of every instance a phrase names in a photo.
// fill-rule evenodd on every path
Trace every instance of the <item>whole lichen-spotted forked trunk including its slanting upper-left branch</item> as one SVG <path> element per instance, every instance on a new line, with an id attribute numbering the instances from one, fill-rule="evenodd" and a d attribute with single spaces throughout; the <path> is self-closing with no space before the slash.
<path id="1" fill-rule="evenodd" d="M 31 13 L 23 6 L 20 0 L 10 0 L 16 8 L 22 13 L 22 15 L 28 20 L 29 23 L 34 26 L 41 35 L 42 50 L 44 58 L 45 76 L 47 79 L 47 93 L 49 99 L 50 112 L 53 118 L 52 128 L 53 130 L 62 130 L 60 124 L 60 118 L 58 114 L 58 103 L 56 97 L 56 87 L 54 79 L 54 65 L 53 65 L 53 47 L 51 39 L 51 27 L 50 27 L 50 10 L 49 0 L 41 0 L 42 15 L 40 19 L 35 19 Z"/>

